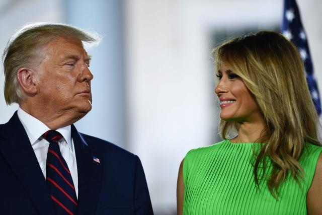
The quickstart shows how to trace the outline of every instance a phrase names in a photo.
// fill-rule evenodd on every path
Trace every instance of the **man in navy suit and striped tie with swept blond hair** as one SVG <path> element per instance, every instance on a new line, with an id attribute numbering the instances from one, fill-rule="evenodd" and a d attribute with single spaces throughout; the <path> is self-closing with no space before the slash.
<path id="1" fill-rule="evenodd" d="M 137 156 L 79 133 L 92 108 L 89 33 L 62 24 L 23 29 L 4 52 L 0 214 L 153 214 Z"/>

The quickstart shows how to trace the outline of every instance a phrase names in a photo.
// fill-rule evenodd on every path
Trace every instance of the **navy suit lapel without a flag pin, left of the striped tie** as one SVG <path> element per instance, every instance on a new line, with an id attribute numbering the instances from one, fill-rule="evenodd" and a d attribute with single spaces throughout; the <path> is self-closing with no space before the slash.
<path id="1" fill-rule="evenodd" d="M 0 150 L 24 185 L 40 214 L 54 214 L 48 187 L 17 111 L 0 131 Z"/>

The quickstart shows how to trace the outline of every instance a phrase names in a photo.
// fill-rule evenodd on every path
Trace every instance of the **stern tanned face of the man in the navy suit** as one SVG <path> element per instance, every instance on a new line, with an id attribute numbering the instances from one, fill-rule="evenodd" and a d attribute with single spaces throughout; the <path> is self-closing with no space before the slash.
<path id="1" fill-rule="evenodd" d="M 57 37 L 40 52 L 36 66 L 37 102 L 46 104 L 58 115 L 82 118 L 92 109 L 90 57 L 82 42 Z"/>

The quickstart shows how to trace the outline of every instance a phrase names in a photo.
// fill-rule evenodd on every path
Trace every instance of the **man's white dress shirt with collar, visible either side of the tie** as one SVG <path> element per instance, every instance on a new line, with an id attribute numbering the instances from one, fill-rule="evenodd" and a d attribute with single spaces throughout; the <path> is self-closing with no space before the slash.
<path id="1" fill-rule="evenodd" d="M 49 148 L 49 142 L 44 139 L 41 135 L 47 130 L 50 130 L 44 123 L 26 113 L 23 109 L 18 109 L 18 117 L 23 124 L 31 146 L 35 152 L 39 166 L 41 168 L 44 177 L 46 178 L 46 160 L 47 152 Z M 64 137 L 59 141 L 59 149 L 62 157 L 65 159 L 68 169 L 71 174 L 72 181 L 74 183 L 76 196 L 78 198 L 78 176 L 77 176 L 77 164 L 76 155 L 73 140 L 71 138 L 71 127 L 70 125 L 58 128 L 56 131 L 61 133 Z"/>

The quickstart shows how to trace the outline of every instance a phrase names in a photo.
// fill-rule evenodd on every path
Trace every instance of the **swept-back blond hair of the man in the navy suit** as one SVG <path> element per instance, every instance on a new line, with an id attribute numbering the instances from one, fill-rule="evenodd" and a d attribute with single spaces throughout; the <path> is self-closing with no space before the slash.
<path id="1" fill-rule="evenodd" d="M 36 23 L 23 27 L 9 40 L 3 54 L 7 105 L 23 100 L 17 79 L 18 69 L 35 61 L 37 50 L 56 37 L 74 38 L 86 43 L 100 41 L 96 34 L 65 24 Z"/>

